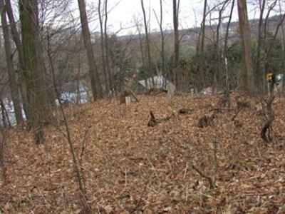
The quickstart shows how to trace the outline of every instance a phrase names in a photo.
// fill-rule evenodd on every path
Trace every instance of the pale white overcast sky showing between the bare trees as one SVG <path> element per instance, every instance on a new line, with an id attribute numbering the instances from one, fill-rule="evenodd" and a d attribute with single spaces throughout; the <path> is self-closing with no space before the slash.
<path id="1" fill-rule="evenodd" d="M 217 1 L 222 0 L 208 0 L 208 4 L 211 7 L 213 4 L 216 4 Z M 164 29 L 172 29 L 172 0 L 162 0 L 162 2 Z M 97 1 L 95 0 L 87 0 L 87 3 L 88 7 L 97 7 Z M 160 0 L 144 0 L 144 4 L 147 19 L 150 19 L 150 28 L 152 29 L 152 31 L 158 31 L 159 26 L 155 19 L 155 14 L 153 10 L 156 11 L 157 16 L 160 16 Z M 197 20 L 197 25 L 199 26 L 202 21 L 203 6 L 204 0 L 180 0 L 180 29 L 195 27 L 195 20 Z M 142 9 L 140 0 L 108 0 L 108 8 L 112 8 L 108 15 L 109 31 L 116 32 L 121 27 L 128 28 L 134 26 L 134 19 L 138 19 L 140 23 L 142 23 Z M 230 8 L 230 6 L 228 8 Z M 249 19 L 257 19 L 259 17 L 259 11 L 256 8 L 256 5 L 254 6 L 252 4 L 248 4 Z M 229 11 L 225 12 L 224 16 L 227 16 L 228 14 Z M 215 16 L 217 17 L 217 14 L 212 14 L 212 18 L 214 18 Z M 236 5 L 234 7 L 232 21 L 237 20 L 238 14 Z M 224 19 L 224 21 L 227 21 L 227 19 Z M 98 21 L 97 24 L 91 24 L 90 28 L 95 29 L 96 26 L 98 26 Z M 123 31 L 120 31 L 120 34 L 131 34 L 134 32 L 135 27 L 130 29 L 124 29 Z"/>

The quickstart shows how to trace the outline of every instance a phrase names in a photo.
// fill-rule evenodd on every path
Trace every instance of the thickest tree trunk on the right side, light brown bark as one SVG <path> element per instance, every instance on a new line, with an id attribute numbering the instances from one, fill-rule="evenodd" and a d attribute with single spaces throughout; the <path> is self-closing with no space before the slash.
<path id="1" fill-rule="evenodd" d="M 252 69 L 252 51 L 250 48 L 250 29 L 249 29 L 249 19 L 247 16 L 247 1 L 238 0 L 237 9 L 239 13 L 239 31 L 242 39 L 242 47 L 244 51 L 244 83 L 246 82 L 247 91 L 250 94 L 256 92 L 254 72 Z M 246 80 L 245 80 L 246 79 Z"/>

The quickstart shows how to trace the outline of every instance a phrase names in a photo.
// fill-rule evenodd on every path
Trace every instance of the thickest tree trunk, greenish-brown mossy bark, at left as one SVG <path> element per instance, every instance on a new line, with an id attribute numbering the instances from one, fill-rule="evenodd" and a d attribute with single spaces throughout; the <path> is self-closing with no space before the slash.
<path id="1" fill-rule="evenodd" d="M 27 87 L 28 115 L 31 116 L 31 127 L 36 134 L 36 143 L 43 141 L 42 125 L 51 119 L 46 94 L 46 82 L 43 76 L 41 43 L 39 41 L 38 27 L 38 1 L 19 1 L 21 34 L 25 62 L 24 76 Z"/>

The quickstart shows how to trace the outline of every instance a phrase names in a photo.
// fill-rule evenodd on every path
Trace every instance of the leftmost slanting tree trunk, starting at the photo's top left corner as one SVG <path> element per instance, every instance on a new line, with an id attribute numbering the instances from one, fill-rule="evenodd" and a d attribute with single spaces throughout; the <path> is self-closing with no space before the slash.
<path id="1" fill-rule="evenodd" d="M 21 98 L 19 94 L 19 88 L 17 86 L 15 70 L 13 66 L 12 60 L 12 51 L 11 51 L 11 44 L 9 39 L 9 28 L 7 24 L 6 18 L 6 10 L 4 8 L 3 0 L 0 0 L 0 10 L 1 10 L 1 23 L 3 29 L 3 36 L 4 36 L 4 45 L 5 45 L 5 54 L 6 54 L 6 63 L 7 63 L 7 70 L 9 74 L 9 85 L 11 89 L 11 97 L 14 104 L 14 111 L 17 124 L 23 122 L 22 110 L 21 110 Z"/>

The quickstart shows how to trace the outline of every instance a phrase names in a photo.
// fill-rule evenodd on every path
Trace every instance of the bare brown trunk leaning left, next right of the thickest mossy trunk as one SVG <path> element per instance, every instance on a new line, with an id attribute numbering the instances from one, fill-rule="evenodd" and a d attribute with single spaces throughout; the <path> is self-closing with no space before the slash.
<path id="1" fill-rule="evenodd" d="M 86 47 L 86 51 L 87 51 L 93 99 L 96 100 L 98 98 L 102 98 L 103 93 L 102 93 L 102 86 L 100 84 L 100 79 L 99 79 L 99 75 L 97 71 L 97 65 L 95 62 L 95 56 L 93 53 L 93 48 L 92 48 L 92 43 L 91 43 L 91 38 L 90 38 L 90 31 L 88 27 L 85 1 L 78 0 L 78 6 L 79 6 L 79 12 L 81 16 L 81 29 L 82 29 L 84 46 Z"/>

